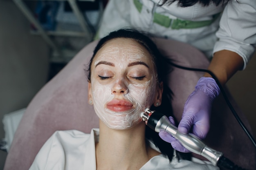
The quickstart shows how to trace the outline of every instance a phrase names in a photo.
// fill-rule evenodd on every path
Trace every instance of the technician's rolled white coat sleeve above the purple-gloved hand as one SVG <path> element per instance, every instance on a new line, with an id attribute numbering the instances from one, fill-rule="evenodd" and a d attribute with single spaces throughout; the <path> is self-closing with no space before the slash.
<path id="1" fill-rule="evenodd" d="M 230 0 L 221 17 L 213 53 L 229 50 L 244 60 L 244 68 L 256 47 L 256 0 Z M 244 69 L 243 68 L 243 69 Z"/>

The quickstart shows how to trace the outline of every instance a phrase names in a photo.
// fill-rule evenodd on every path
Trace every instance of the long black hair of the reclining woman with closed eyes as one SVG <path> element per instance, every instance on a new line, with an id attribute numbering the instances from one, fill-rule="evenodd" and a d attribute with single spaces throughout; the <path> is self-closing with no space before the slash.
<path id="1" fill-rule="evenodd" d="M 147 49 L 147 51 L 150 53 L 150 55 L 152 56 L 153 62 L 155 63 L 155 66 L 157 69 L 158 84 L 159 84 L 159 82 L 163 82 L 163 84 L 164 84 L 164 91 L 163 91 L 163 95 L 162 95 L 161 106 L 159 106 L 159 107 L 152 106 L 150 109 L 162 112 L 162 113 L 166 114 L 167 117 L 173 116 L 173 110 L 172 110 L 172 106 L 171 106 L 172 92 L 171 92 L 171 89 L 168 88 L 168 86 L 166 85 L 167 80 L 165 79 L 166 74 L 168 74 L 168 72 L 170 71 L 170 65 L 169 66 L 167 65 L 168 62 L 166 62 L 166 59 L 160 53 L 156 44 L 149 37 L 150 37 L 150 35 L 145 32 L 143 33 L 141 31 L 137 31 L 134 29 L 120 29 L 118 31 L 113 31 L 106 37 L 102 38 L 98 42 L 97 46 L 95 47 L 93 56 L 90 60 L 90 64 L 89 64 L 89 68 L 88 68 L 88 81 L 90 82 L 90 77 L 91 77 L 90 70 L 91 70 L 92 60 L 94 59 L 94 56 L 96 55 L 97 51 L 99 51 L 99 49 L 101 49 L 101 47 L 104 44 L 106 44 L 107 42 L 109 42 L 111 40 L 117 39 L 117 38 L 128 38 L 128 39 L 135 40 L 136 42 L 138 42 L 139 44 L 144 46 Z M 167 70 L 167 68 L 168 68 L 168 70 Z M 172 161 L 174 149 L 171 146 L 171 144 L 162 140 L 159 137 L 158 133 L 155 132 L 154 130 L 150 129 L 148 126 L 146 126 L 145 136 L 147 139 L 150 139 L 151 141 L 153 141 L 155 146 L 157 146 L 159 148 L 160 152 L 163 155 L 166 155 L 168 157 L 168 159 L 170 161 Z M 176 155 L 178 158 L 191 160 L 191 153 L 182 153 L 182 152 L 176 152 L 176 153 L 177 153 Z"/>

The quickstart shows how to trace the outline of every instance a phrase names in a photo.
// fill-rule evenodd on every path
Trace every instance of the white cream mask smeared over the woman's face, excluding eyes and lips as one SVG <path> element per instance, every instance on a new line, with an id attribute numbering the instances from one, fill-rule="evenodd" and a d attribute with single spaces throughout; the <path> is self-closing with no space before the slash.
<path id="1" fill-rule="evenodd" d="M 104 83 L 104 80 L 99 81 L 95 78 L 99 75 L 91 77 L 94 110 L 101 121 L 109 128 L 119 130 L 132 128 L 142 121 L 140 117 L 141 112 L 146 108 L 150 108 L 153 104 L 157 85 L 154 69 L 150 70 L 151 77 L 147 82 L 133 84 L 126 78 L 128 64 L 134 61 L 141 61 L 142 59 L 145 60 L 146 57 L 150 58 L 150 56 L 145 56 L 142 49 L 137 46 L 108 46 L 107 49 L 104 49 L 96 57 L 94 66 L 102 61 L 115 64 L 113 67 L 113 72 L 115 73 L 113 81 Z M 125 92 L 121 95 L 121 99 L 120 96 L 117 99 L 117 95 L 113 91 L 121 91 L 123 89 Z M 108 109 L 107 104 L 117 100 L 131 104 L 132 108 L 120 112 Z"/>

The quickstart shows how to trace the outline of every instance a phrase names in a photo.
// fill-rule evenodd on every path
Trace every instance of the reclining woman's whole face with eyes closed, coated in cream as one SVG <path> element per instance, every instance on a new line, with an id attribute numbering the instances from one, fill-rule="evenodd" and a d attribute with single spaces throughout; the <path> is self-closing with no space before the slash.
<path id="1" fill-rule="evenodd" d="M 157 98 L 155 65 L 148 51 L 134 40 L 107 42 L 91 65 L 89 99 L 109 128 L 128 129 Z"/>

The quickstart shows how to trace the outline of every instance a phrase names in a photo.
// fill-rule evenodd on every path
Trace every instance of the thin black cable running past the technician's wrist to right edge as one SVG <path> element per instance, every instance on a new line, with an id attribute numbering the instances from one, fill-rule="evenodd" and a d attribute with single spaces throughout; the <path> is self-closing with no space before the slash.
<path id="1" fill-rule="evenodd" d="M 224 88 L 222 87 L 222 85 L 220 84 L 218 78 L 209 70 L 207 69 L 202 69 L 202 68 L 189 68 L 189 67 L 185 67 L 185 66 L 180 66 L 177 64 L 174 64 L 173 62 L 168 62 L 169 64 L 177 67 L 177 68 L 181 68 L 184 70 L 189 70 L 189 71 L 200 71 L 200 72 L 206 72 L 209 73 L 213 79 L 215 79 L 216 83 L 218 84 L 220 91 L 227 103 L 227 105 L 229 106 L 231 112 L 233 113 L 234 117 L 236 118 L 236 120 L 238 121 L 238 123 L 240 124 L 240 126 L 243 128 L 243 130 L 245 131 L 245 133 L 247 134 L 247 136 L 249 137 L 249 139 L 252 141 L 252 144 L 254 145 L 254 147 L 256 148 L 256 142 L 254 137 L 251 135 L 251 133 L 249 132 L 249 130 L 246 128 L 246 126 L 243 124 L 243 121 L 240 119 L 240 117 L 237 115 L 236 110 L 233 108 L 233 106 L 231 105 L 231 103 L 229 102 L 229 99 L 224 91 Z"/>

